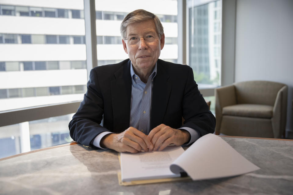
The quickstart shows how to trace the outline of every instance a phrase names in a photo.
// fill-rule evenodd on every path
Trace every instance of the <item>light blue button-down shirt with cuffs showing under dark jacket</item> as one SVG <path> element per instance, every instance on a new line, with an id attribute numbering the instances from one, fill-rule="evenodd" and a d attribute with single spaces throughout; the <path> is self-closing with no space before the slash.
<path id="1" fill-rule="evenodd" d="M 140 80 L 139 76 L 135 74 L 132 63 L 130 65 L 130 75 L 132 77 L 132 87 L 131 87 L 131 102 L 130 102 L 130 121 L 129 126 L 132 126 L 139 131 L 148 135 L 150 133 L 150 114 L 151 114 L 151 105 L 152 105 L 152 93 L 153 93 L 153 85 L 154 85 L 154 77 L 157 74 L 157 63 L 155 64 L 153 72 L 150 74 L 147 83 L 143 83 Z M 180 129 L 184 129 L 190 133 L 190 141 L 185 145 L 193 143 L 195 140 L 199 138 L 199 134 L 194 129 L 189 127 L 183 127 Z M 112 132 L 103 132 L 100 133 L 93 141 L 93 145 L 99 148 L 100 141 L 102 138 Z M 105 149 L 105 148 L 102 148 Z"/>

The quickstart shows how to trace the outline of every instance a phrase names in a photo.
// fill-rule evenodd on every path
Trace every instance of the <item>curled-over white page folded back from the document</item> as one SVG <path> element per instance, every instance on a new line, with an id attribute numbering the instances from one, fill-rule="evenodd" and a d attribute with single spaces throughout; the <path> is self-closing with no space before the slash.
<path id="1" fill-rule="evenodd" d="M 199 180 L 237 176 L 258 170 L 259 167 L 221 137 L 209 133 L 194 142 L 172 163 L 170 169 L 174 173 L 182 172 L 183 169 L 193 180 Z"/>

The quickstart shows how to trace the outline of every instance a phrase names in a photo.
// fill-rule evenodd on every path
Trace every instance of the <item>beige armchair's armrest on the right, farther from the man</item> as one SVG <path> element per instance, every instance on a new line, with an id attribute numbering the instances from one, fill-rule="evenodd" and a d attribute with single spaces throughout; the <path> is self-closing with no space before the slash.
<path id="1" fill-rule="evenodd" d="M 273 134 L 275 138 L 281 138 L 285 133 L 287 117 L 287 92 L 288 87 L 285 85 L 278 93 L 273 107 Z"/>

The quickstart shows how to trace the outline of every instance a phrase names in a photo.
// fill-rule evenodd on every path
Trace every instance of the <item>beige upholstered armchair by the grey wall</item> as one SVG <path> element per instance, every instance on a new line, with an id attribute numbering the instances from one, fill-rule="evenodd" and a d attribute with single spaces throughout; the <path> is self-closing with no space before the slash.
<path id="1" fill-rule="evenodd" d="M 281 138 L 287 91 L 287 85 L 271 81 L 245 81 L 215 89 L 215 133 Z"/>

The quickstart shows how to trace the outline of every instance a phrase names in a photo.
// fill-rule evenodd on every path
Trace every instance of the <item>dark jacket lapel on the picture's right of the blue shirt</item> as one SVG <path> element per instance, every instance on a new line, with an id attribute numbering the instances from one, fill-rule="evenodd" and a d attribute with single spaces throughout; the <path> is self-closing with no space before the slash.
<path id="1" fill-rule="evenodd" d="M 157 61 L 157 74 L 154 78 L 151 126 L 150 129 L 163 123 L 168 105 L 172 84 L 168 82 L 169 74 L 164 69 L 161 60 Z"/>

